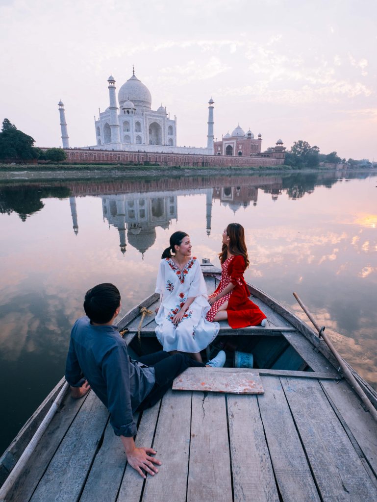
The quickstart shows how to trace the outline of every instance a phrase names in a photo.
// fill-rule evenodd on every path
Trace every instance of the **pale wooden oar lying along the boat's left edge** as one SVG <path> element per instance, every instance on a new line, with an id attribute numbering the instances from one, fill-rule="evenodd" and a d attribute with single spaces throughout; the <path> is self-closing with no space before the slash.
<path id="1" fill-rule="evenodd" d="M 56 397 L 55 401 L 52 403 L 51 408 L 47 412 L 47 415 L 42 420 L 40 426 L 38 427 L 34 436 L 30 440 L 27 447 L 25 448 L 23 454 L 21 455 L 18 462 L 16 463 L 16 465 L 12 469 L 10 475 L 7 477 L 3 486 L 0 488 L 0 502 L 5 500 L 7 493 L 12 488 L 12 486 L 13 486 L 14 482 L 16 481 L 16 479 L 18 478 L 18 476 L 21 474 L 22 469 L 24 468 L 26 462 L 29 460 L 31 454 L 35 450 L 39 440 L 42 437 L 42 434 L 45 432 L 45 430 L 47 429 L 47 426 L 49 425 L 53 416 L 55 415 L 55 412 L 58 410 L 60 403 L 61 403 L 65 393 L 67 392 L 68 388 L 69 388 L 69 385 L 67 382 L 65 382 L 61 391 L 59 392 L 58 396 Z"/>

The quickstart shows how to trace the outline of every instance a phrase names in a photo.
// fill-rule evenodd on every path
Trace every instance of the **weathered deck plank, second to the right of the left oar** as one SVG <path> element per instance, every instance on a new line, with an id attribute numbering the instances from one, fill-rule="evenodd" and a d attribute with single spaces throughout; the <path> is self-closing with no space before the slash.
<path id="1" fill-rule="evenodd" d="M 38 484 L 32 502 L 78 500 L 107 419 L 108 411 L 90 392 Z"/>

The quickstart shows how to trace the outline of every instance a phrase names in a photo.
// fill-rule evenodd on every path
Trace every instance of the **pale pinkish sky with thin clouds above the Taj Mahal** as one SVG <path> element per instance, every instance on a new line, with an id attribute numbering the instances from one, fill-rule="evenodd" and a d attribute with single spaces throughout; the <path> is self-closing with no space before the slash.
<path id="1" fill-rule="evenodd" d="M 136 76 L 177 115 L 177 144 L 239 123 L 262 149 L 281 138 L 377 161 L 376 0 L 0 0 L 0 120 L 61 146 L 95 144 L 94 115 Z"/>

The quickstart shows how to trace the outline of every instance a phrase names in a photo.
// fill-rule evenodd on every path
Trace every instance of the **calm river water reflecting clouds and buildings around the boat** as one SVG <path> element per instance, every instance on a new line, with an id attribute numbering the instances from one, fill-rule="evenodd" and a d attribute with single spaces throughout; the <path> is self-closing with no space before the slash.
<path id="1" fill-rule="evenodd" d="M 154 291 L 175 230 L 218 265 L 227 223 L 246 230 L 248 282 L 305 318 L 377 388 L 377 175 L 290 174 L 0 185 L 0 453 L 64 373 L 90 287 L 122 313 Z"/>

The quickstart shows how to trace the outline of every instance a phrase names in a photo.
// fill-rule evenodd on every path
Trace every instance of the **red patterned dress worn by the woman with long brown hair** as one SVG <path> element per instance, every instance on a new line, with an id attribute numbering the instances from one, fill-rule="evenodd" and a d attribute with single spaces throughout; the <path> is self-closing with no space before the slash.
<path id="1" fill-rule="evenodd" d="M 207 320 L 213 321 L 219 307 L 228 301 L 228 323 L 231 328 L 244 328 L 246 326 L 258 326 L 266 315 L 262 310 L 249 300 L 249 291 L 243 273 L 245 271 L 245 261 L 242 256 L 232 255 L 221 265 L 221 281 L 216 291 L 209 296 L 213 298 L 223 291 L 229 283 L 235 288 L 228 294 L 222 296 L 215 302 L 207 312 Z"/>

